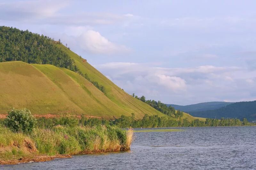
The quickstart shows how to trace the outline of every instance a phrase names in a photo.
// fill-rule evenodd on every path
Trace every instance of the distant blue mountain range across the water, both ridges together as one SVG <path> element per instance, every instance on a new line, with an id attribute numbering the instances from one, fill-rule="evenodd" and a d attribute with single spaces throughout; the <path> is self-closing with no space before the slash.
<path id="1" fill-rule="evenodd" d="M 171 105 L 196 117 L 205 118 L 247 118 L 248 121 L 256 121 L 256 100 L 236 103 L 229 102 L 206 102 L 195 105 L 179 106 Z"/>

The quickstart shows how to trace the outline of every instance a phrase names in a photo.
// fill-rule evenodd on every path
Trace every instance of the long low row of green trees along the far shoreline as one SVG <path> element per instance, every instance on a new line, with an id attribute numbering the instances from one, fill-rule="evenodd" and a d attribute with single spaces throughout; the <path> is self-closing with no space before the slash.
<path id="1" fill-rule="evenodd" d="M 100 118 L 88 118 L 81 115 L 81 118 L 73 116 L 64 116 L 59 118 L 47 119 L 39 118 L 39 127 L 51 127 L 55 125 L 68 125 L 68 126 L 98 126 L 98 125 L 116 125 L 120 128 L 160 128 L 160 127 L 217 127 L 217 126 L 246 126 L 248 121 L 244 119 L 241 122 L 239 119 L 210 119 L 206 118 L 206 121 L 195 119 L 188 121 L 188 119 L 175 120 L 170 117 L 159 117 L 158 115 L 145 114 L 142 119 L 136 120 L 134 114 L 132 116 L 122 115 L 120 118 L 114 120 L 105 120 Z"/>

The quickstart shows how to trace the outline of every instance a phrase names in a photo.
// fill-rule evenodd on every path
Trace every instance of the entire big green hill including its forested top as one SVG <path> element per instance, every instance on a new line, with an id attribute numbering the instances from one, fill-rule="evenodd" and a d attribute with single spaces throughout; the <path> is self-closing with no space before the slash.
<path id="1" fill-rule="evenodd" d="M 43 35 L 1 26 L 0 62 L 0 114 L 10 107 L 27 107 L 36 115 L 167 116 L 133 98 L 86 60 Z M 195 119 L 188 114 L 184 118 Z"/>

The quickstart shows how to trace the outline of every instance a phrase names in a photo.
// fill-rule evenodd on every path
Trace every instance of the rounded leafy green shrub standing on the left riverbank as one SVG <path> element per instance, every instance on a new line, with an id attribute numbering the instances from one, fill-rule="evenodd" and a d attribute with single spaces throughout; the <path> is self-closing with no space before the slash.
<path id="1" fill-rule="evenodd" d="M 4 125 L 13 132 L 30 133 L 36 127 L 36 118 L 27 108 L 12 108 L 4 120 Z"/>

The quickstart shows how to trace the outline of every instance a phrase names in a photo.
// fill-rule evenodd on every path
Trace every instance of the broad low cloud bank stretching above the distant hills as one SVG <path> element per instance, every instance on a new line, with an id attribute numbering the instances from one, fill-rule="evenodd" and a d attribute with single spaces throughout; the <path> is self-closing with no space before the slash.
<path id="1" fill-rule="evenodd" d="M 148 63 L 120 62 L 95 67 L 128 93 L 135 92 L 165 103 L 239 101 L 253 98 L 250 93 L 256 92 L 252 89 L 256 86 L 256 71 L 241 67 L 163 68 Z"/>

